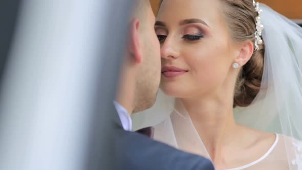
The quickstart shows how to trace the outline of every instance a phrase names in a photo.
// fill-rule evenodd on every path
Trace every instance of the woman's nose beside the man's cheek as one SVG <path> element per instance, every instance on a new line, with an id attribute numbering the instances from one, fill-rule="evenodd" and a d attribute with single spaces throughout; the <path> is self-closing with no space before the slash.
<path id="1" fill-rule="evenodd" d="M 171 37 L 167 37 L 161 46 L 161 58 L 176 59 L 179 57 L 179 45 Z"/>

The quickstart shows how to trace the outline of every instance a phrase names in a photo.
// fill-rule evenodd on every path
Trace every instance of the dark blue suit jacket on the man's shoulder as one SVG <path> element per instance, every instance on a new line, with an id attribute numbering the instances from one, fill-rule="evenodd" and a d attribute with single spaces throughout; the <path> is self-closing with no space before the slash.
<path id="1" fill-rule="evenodd" d="M 146 131 L 148 132 L 148 131 Z M 148 133 L 145 133 L 149 135 Z M 213 164 L 200 156 L 185 153 L 150 139 L 124 131 L 116 113 L 114 127 L 115 169 L 123 170 L 212 170 Z"/>

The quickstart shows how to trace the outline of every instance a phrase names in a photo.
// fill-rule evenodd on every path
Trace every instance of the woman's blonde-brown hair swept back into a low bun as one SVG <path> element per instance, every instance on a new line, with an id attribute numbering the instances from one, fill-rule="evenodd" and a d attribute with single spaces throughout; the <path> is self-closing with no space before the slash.
<path id="1" fill-rule="evenodd" d="M 256 16 L 252 0 L 221 0 L 223 16 L 231 37 L 236 41 L 255 42 Z M 264 44 L 259 45 L 251 59 L 242 67 L 236 80 L 233 107 L 246 107 L 254 100 L 261 88 L 264 67 Z M 254 47 L 255 48 L 255 47 Z"/>

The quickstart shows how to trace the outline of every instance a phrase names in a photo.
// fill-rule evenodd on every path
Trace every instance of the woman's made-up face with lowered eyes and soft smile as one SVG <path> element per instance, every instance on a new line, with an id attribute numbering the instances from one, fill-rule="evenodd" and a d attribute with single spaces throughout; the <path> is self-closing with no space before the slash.
<path id="1" fill-rule="evenodd" d="M 180 98 L 219 93 L 228 86 L 238 50 L 219 0 L 164 0 L 157 16 L 165 94 Z"/>

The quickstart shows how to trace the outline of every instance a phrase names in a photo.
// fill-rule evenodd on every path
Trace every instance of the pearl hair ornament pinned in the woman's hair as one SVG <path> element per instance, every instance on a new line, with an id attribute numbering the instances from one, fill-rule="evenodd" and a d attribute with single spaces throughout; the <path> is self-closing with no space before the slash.
<path id="1" fill-rule="evenodd" d="M 255 2 L 253 0 L 253 5 L 255 7 L 256 12 L 258 13 L 258 16 L 256 17 L 256 31 L 255 31 L 255 50 L 259 50 L 259 45 L 263 44 L 263 40 L 261 38 L 262 30 L 264 29 L 264 26 L 261 23 L 261 14 L 262 14 L 262 9 L 259 8 L 259 3 Z"/>

